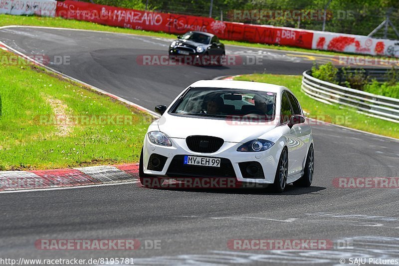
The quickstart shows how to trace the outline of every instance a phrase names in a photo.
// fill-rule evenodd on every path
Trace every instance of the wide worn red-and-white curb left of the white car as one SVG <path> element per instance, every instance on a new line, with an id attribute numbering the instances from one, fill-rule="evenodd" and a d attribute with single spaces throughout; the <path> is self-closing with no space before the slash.
<path id="1" fill-rule="evenodd" d="M 0 193 L 137 183 L 139 165 L 0 171 Z"/>

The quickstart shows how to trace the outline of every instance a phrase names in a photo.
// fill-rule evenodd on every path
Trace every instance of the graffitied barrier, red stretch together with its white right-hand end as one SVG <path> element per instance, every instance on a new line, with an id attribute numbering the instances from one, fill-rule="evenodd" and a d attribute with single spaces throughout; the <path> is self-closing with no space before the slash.
<path id="1" fill-rule="evenodd" d="M 81 1 L 58 1 L 56 15 L 109 26 L 183 34 L 207 31 L 220 39 L 307 49 L 399 57 L 399 42 L 368 36 L 215 20 L 210 17 L 143 11 Z"/>

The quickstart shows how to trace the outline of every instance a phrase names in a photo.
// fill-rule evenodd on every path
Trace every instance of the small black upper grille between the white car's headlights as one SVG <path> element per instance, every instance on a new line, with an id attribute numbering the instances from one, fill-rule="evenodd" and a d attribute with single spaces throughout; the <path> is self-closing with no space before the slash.
<path id="1" fill-rule="evenodd" d="M 224 140 L 215 136 L 188 136 L 187 146 L 195 152 L 212 153 L 216 152 L 224 143 Z"/>

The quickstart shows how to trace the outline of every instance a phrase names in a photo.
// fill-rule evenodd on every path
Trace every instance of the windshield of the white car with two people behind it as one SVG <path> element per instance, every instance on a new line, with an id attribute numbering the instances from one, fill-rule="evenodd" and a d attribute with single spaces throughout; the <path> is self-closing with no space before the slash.
<path id="1" fill-rule="evenodd" d="M 220 88 L 190 88 L 171 114 L 228 119 L 258 115 L 274 120 L 276 94 L 263 91 Z"/>

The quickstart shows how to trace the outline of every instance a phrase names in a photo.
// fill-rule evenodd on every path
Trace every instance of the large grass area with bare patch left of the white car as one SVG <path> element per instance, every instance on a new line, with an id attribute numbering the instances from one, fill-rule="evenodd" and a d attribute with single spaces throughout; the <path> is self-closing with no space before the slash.
<path id="1" fill-rule="evenodd" d="M 13 54 L 1 51 L 0 57 Z M 131 163 L 139 160 L 146 113 L 32 65 L 7 65 L 1 60 L 0 169 Z M 49 102 L 52 99 L 53 102 Z M 54 105 L 54 101 L 62 104 Z M 62 113 L 64 112 L 64 113 Z M 45 123 L 54 115 L 125 116 L 126 123 L 98 125 L 75 121 L 66 127 Z M 130 123 L 130 121 L 132 123 Z M 115 124 L 114 123 L 114 124 Z M 111 125 L 109 125 L 111 124 Z M 62 135 L 64 133 L 65 135 Z"/>

